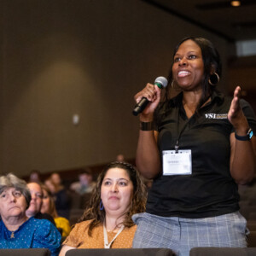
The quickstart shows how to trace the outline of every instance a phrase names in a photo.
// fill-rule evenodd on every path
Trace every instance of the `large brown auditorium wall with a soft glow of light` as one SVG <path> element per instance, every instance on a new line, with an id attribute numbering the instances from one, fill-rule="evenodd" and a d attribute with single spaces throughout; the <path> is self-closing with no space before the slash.
<path id="1" fill-rule="evenodd" d="M 139 0 L 0 5 L 2 173 L 100 164 L 119 153 L 134 157 L 133 95 L 167 75 L 177 41 L 210 38 L 224 70 L 230 51 L 223 38 Z"/>

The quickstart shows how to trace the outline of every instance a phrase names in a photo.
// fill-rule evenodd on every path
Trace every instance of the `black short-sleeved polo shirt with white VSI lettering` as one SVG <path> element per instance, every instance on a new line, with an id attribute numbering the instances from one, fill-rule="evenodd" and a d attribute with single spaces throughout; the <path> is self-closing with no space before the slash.
<path id="1" fill-rule="evenodd" d="M 239 210 L 237 184 L 230 175 L 230 133 L 227 119 L 231 97 L 214 92 L 198 115 L 187 118 L 182 93 L 157 113 L 160 158 L 163 150 L 191 149 L 192 174 L 154 179 L 146 212 L 163 217 L 207 218 Z M 248 123 L 256 132 L 250 105 L 241 100 Z"/>

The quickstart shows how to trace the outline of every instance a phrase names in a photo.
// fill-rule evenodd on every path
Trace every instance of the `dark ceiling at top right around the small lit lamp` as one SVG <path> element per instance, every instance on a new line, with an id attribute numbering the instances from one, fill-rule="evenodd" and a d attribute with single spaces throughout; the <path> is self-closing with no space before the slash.
<path id="1" fill-rule="evenodd" d="M 256 0 L 143 0 L 231 42 L 256 40 Z"/>

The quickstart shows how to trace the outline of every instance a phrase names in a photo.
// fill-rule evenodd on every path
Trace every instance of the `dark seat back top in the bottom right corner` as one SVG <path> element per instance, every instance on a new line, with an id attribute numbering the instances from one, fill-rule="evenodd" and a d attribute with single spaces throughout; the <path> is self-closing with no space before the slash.
<path id="1" fill-rule="evenodd" d="M 256 247 L 195 247 L 189 256 L 255 256 Z"/>

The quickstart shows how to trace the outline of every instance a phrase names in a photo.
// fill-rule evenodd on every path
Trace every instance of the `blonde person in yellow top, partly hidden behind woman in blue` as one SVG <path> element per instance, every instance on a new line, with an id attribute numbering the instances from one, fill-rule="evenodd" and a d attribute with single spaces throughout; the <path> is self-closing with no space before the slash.
<path id="1" fill-rule="evenodd" d="M 68 236 L 70 232 L 70 224 L 67 218 L 58 216 L 55 208 L 55 201 L 45 185 L 41 185 L 43 190 L 43 204 L 41 207 L 41 213 L 48 213 L 55 220 L 56 228 L 60 231 L 61 236 Z"/>

